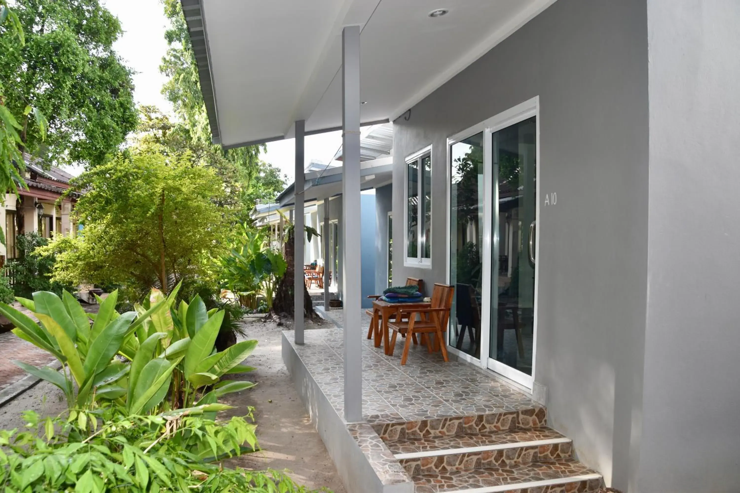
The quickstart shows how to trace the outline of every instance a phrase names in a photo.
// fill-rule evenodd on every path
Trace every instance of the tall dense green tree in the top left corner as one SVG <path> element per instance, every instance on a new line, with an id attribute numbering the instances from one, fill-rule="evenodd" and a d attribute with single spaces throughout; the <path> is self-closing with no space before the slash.
<path id="1" fill-rule="evenodd" d="M 0 35 L 0 84 L 7 109 L 21 115 L 19 148 L 50 162 L 103 163 L 136 125 L 131 71 L 112 49 L 118 18 L 98 0 L 22 0 L 13 8 L 25 42 Z M 43 146 L 28 107 L 48 120 Z"/>

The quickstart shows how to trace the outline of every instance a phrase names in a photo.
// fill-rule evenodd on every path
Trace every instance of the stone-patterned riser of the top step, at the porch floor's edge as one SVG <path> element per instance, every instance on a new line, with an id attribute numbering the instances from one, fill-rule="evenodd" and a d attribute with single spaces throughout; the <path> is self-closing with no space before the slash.
<path id="1" fill-rule="evenodd" d="M 505 429 L 537 428 L 547 424 L 545 407 L 491 412 L 475 416 L 452 416 L 400 423 L 378 423 L 372 427 L 384 441 L 499 432 Z"/>

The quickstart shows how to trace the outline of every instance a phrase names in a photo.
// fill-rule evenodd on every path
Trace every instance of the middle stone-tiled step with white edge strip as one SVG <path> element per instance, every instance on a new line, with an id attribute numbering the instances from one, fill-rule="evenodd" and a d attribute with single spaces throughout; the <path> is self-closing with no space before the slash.
<path id="1" fill-rule="evenodd" d="M 545 427 L 406 438 L 386 445 L 412 476 L 568 459 L 573 450 L 570 438 Z"/>

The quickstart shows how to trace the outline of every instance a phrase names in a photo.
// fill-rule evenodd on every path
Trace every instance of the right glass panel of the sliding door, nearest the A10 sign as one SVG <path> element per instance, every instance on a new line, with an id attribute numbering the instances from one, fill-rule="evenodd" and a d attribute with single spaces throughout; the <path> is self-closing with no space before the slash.
<path id="1" fill-rule="evenodd" d="M 491 135 L 494 235 L 489 367 L 528 375 L 534 351 L 536 270 L 536 117 Z M 511 370 L 515 370 L 511 372 Z"/>

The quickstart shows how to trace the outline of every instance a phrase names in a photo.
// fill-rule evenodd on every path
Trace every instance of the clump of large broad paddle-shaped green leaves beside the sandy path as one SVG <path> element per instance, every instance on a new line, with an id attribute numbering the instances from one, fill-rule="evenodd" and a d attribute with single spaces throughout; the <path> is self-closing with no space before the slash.
<path id="1" fill-rule="evenodd" d="M 19 299 L 42 324 L 0 303 L 0 313 L 16 326 L 13 333 L 53 354 L 63 372 L 13 362 L 59 387 L 70 409 L 115 401 L 129 414 L 153 414 L 214 404 L 221 395 L 253 387 L 248 381 L 221 382 L 221 377 L 252 370 L 240 363 L 257 341 L 214 352 L 224 311 L 206 310 L 198 296 L 175 310 L 178 288 L 167 298 L 152 290 L 144 305 L 122 315 L 115 311 L 118 293 L 113 291 L 101 300 L 92 327 L 92 315 L 67 291 L 63 299 L 44 291 L 34 293 L 33 300 Z M 117 353 L 130 364 L 118 361 Z"/>

